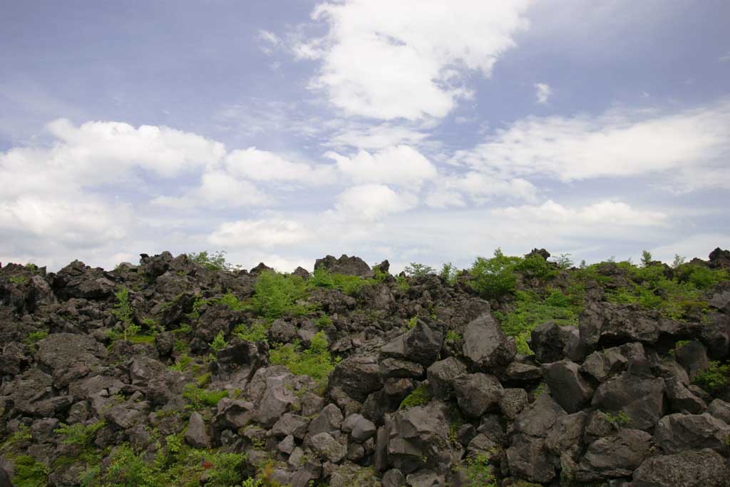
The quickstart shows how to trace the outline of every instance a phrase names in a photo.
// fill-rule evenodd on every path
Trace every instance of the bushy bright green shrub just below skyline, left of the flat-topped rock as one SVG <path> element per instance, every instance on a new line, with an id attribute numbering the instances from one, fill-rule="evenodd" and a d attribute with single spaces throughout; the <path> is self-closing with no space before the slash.
<path id="1" fill-rule="evenodd" d="M 269 320 L 288 314 L 302 315 L 308 311 L 306 307 L 296 304 L 306 294 L 304 280 L 299 276 L 261 272 L 253 285 L 253 291 L 251 308 Z"/>

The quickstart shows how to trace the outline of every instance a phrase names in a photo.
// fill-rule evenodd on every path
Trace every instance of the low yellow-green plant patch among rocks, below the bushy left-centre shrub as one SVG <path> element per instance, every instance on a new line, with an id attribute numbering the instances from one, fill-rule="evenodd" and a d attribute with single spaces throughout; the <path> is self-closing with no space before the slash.
<path id="1" fill-rule="evenodd" d="M 299 351 L 298 342 L 279 344 L 269 351 L 269 361 L 272 365 L 286 366 L 294 375 L 309 375 L 320 386 L 326 386 L 327 377 L 337 363 L 327 348 L 324 331 L 318 331 L 310 340 L 310 348 Z"/>

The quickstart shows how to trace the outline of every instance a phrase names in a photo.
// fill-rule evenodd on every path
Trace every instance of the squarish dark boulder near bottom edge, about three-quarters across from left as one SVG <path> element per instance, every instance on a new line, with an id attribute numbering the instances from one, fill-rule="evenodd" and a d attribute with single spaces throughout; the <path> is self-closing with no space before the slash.
<path id="1" fill-rule="evenodd" d="M 555 466 L 542 438 L 515 434 L 507 448 L 507 463 L 512 475 L 531 482 L 548 483 L 556 477 Z"/>

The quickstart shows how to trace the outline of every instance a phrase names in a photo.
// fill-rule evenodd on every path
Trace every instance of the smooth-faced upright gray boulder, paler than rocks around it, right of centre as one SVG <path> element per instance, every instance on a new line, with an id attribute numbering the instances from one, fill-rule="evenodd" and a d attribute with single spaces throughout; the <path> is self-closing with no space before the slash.
<path id="1" fill-rule="evenodd" d="M 517 348 L 515 342 L 507 340 L 491 313 L 485 312 L 466 325 L 462 352 L 475 367 L 487 370 L 509 364 Z"/>

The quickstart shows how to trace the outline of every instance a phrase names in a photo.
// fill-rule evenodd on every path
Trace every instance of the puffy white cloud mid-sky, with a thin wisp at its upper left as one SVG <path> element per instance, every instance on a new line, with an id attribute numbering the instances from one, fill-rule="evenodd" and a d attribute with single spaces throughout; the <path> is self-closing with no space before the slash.
<path id="1" fill-rule="evenodd" d="M 418 188 L 423 181 L 437 176 L 436 166 L 407 145 L 388 147 L 374 154 L 361 150 L 350 157 L 328 152 L 325 157 L 337 161 L 339 171 L 356 183 L 388 183 Z"/>

